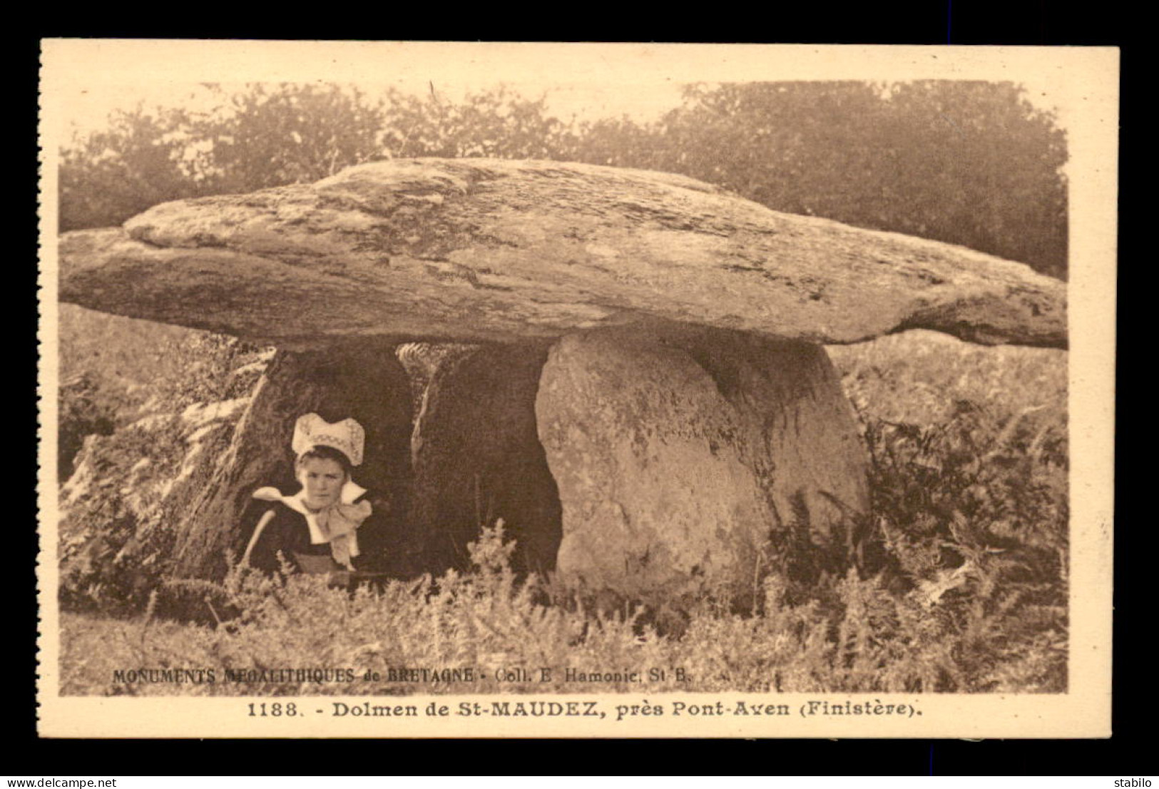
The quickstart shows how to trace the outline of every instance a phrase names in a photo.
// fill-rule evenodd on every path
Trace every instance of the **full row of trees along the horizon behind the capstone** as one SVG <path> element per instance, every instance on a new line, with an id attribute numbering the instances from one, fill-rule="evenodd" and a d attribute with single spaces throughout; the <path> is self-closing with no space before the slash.
<path id="1" fill-rule="evenodd" d="M 1066 277 L 1065 132 L 1009 82 L 692 85 L 659 119 L 560 119 L 508 88 L 451 101 L 250 85 L 110 115 L 61 149 L 60 229 L 387 158 L 551 159 L 688 175 L 777 211 L 958 243 Z"/>

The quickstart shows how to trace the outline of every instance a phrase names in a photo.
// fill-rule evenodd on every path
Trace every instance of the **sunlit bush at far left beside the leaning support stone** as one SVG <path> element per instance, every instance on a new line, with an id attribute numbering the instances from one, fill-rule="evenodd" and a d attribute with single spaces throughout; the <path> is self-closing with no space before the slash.
<path id="1" fill-rule="evenodd" d="M 118 338 L 111 333 L 110 339 Z M 80 434 L 88 424 L 82 418 L 93 412 L 107 414 L 110 423 L 107 434 L 93 436 L 75 455 L 76 468 L 70 472 L 79 473 L 61 491 L 59 598 L 66 608 L 112 615 L 143 611 L 148 591 L 169 570 L 182 494 L 204 481 L 241 409 L 209 422 L 187 419 L 184 411 L 248 396 L 269 356 L 199 331 L 161 345 L 163 374 L 134 390 L 131 401 L 115 396 L 124 392 L 116 382 L 92 383 L 88 373 L 61 387 L 63 431 Z M 105 410 L 89 403 L 105 403 Z"/>

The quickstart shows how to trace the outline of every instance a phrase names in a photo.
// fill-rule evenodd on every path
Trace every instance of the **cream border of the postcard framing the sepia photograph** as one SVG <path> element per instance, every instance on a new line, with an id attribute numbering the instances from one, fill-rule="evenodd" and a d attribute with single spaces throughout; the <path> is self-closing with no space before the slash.
<path id="1" fill-rule="evenodd" d="M 374 43 L 46 39 L 42 42 L 39 145 L 41 614 L 38 731 L 48 737 L 896 737 L 1110 736 L 1114 504 L 1115 279 L 1118 50 L 1109 48 L 816 46 L 705 44 Z M 595 701 L 605 718 L 248 717 L 253 697 L 58 695 L 57 607 L 57 155 L 78 83 L 430 80 L 632 86 L 778 80 L 1011 80 L 1057 107 L 1070 161 L 1071 644 L 1065 694 L 551 694 L 391 697 L 457 709 L 460 701 Z M 369 697 L 385 703 L 381 696 Z M 790 717 L 632 717 L 618 704 L 786 703 Z M 258 701 L 268 701 L 260 699 Z M 285 699 L 284 701 L 290 701 Z M 341 696 L 293 699 L 329 708 Z M 803 717 L 808 700 L 912 704 L 912 717 Z"/>

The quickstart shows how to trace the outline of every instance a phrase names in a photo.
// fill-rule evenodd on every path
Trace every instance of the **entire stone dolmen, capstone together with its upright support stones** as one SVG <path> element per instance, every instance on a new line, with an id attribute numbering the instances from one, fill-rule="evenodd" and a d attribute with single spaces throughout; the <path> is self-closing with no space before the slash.
<path id="1" fill-rule="evenodd" d="M 308 411 L 366 428 L 369 551 L 516 562 L 634 596 L 739 589 L 771 539 L 869 506 L 824 344 L 913 328 L 1066 346 L 1065 284 L 962 247 L 771 211 L 677 175 L 413 159 L 165 203 L 59 239 L 59 298 L 278 349 L 174 529 L 224 572 Z M 413 414 L 395 350 L 458 343 Z M 364 548 L 364 550 L 366 550 Z"/>

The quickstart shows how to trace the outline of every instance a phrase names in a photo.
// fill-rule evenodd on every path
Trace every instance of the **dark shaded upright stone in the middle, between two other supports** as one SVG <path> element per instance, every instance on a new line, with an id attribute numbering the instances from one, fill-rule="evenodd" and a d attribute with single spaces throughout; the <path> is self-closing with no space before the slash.
<path id="1" fill-rule="evenodd" d="M 516 570 L 555 567 L 560 502 L 535 429 L 546 350 L 483 346 L 439 365 L 411 439 L 415 528 L 425 567 L 469 564 L 467 543 L 502 518 Z"/>

